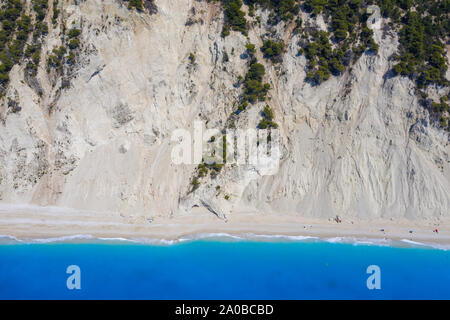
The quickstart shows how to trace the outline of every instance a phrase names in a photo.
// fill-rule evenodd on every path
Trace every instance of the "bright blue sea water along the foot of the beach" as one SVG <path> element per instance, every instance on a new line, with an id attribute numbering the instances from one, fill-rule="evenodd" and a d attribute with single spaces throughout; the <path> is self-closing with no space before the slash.
<path id="1" fill-rule="evenodd" d="M 69 265 L 81 290 L 68 290 Z M 369 265 L 381 289 L 369 290 Z M 450 251 L 198 240 L 0 245 L 0 299 L 450 299 Z"/>

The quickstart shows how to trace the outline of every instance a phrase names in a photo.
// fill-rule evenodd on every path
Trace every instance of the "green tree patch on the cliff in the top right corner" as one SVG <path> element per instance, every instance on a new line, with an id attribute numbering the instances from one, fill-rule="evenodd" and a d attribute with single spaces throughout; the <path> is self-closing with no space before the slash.
<path id="1" fill-rule="evenodd" d="M 381 0 L 368 1 L 380 6 L 381 13 L 398 30 L 399 50 L 392 74 L 409 77 L 416 83 L 422 105 L 442 128 L 450 131 L 448 96 L 439 101 L 429 99 L 429 86 L 448 87 L 448 62 L 445 43 L 450 34 L 450 1 L 448 0 Z"/>

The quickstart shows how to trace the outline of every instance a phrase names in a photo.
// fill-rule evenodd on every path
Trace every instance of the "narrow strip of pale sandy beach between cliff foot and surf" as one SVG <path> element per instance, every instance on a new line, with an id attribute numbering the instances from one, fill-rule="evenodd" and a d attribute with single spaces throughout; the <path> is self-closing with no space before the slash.
<path id="1" fill-rule="evenodd" d="M 196 210 L 175 218 L 121 216 L 118 213 L 83 212 L 62 208 L 0 206 L 0 235 L 22 240 L 89 235 L 95 238 L 165 239 L 195 238 L 204 234 L 284 235 L 373 240 L 408 240 L 450 248 L 450 223 L 409 220 L 335 221 L 289 215 L 240 212 L 220 220 Z M 433 232 L 439 230 L 439 234 Z M 384 232 L 381 231 L 384 229 Z M 409 231 L 413 230 L 413 233 Z"/>

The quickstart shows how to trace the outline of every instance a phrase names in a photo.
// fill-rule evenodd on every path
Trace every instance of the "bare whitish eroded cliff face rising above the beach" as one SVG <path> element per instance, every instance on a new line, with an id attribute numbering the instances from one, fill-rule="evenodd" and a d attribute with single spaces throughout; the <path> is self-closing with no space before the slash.
<path id="1" fill-rule="evenodd" d="M 190 192 L 196 166 L 173 163 L 171 135 L 196 120 L 225 127 L 247 69 L 241 54 L 248 42 L 261 47 L 268 12 L 258 11 L 262 23 L 250 28 L 249 39 L 238 32 L 223 38 L 217 4 L 154 5 L 150 14 L 115 0 L 59 1 L 66 28 L 82 31 L 80 53 L 64 76 L 48 72 L 62 30 L 62 23 L 50 23 L 39 86 L 25 79 L 23 64 L 11 70 L 0 106 L 1 202 L 125 216 L 195 214 L 198 205 L 220 217 L 249 210 L 324 219 L 450 218 L 448 132 L 430 123 L 409 79 L 386 76 L 398 40 L 376 10 L 369 24 L 378 53 L 363 54 L 350 71 L 318 86 L 305 81 L 300 36 L 280 23 L 283 62 L 256 52 L 282 136 L 278 172 L 261 176 L 226 165 Z M 323 27 L 320 16 L 301 14 Z M 256 128 L 265 104 L 242 112 L 236 126 Z"/>

